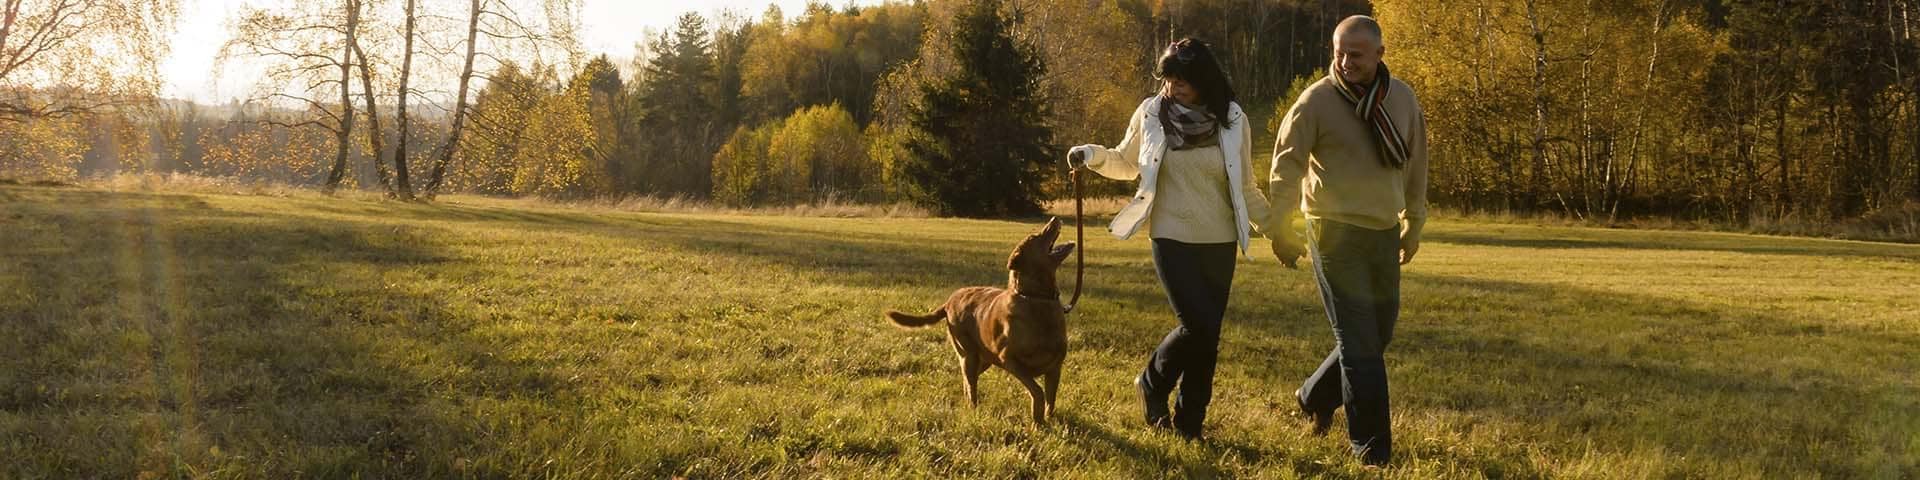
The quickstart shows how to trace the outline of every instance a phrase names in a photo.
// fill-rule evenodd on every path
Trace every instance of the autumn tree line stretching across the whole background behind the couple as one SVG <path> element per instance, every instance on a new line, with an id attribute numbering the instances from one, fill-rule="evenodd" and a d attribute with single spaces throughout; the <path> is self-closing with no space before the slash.
<path id="1" fill-rule="evenodd" d="M 227 54 L 273 65 L 246 100 L 15 94 L 0 169 L 1018 215 L 1062 196 L 1064 144 L 1119 140 L 1167 42 L 1215 44 L 1265 150 L 1269 119 L 1325 75 L 1331 25 L 1373 13 L 1427 108 L 1440 205 L 1843 221 L 1920 200 L 1916 6 L 814 2 L 685 13 L 616 61 L 580 52 L 570 0 L 311 2 L 236 15 Z"/>

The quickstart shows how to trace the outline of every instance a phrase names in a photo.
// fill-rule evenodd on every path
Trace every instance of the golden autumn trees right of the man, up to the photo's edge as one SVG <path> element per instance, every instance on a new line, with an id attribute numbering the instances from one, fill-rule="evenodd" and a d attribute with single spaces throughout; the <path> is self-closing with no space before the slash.
<path id="1" fill-rule="evenodd" d="M 1920 2 L 1375 8 L 1440 204 L 1745 225 L 1920 202 Z"/>

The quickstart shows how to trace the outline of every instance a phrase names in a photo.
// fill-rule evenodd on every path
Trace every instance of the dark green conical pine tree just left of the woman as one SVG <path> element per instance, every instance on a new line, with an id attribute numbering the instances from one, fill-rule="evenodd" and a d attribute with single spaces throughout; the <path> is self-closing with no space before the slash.
<path id="1" fill-rule="evenodd" d="M 943 215 L 1033 215 L 1041 173 L 1058 157 L 1041 75 L 1046 65 L 1012 36 L 998 0 L 970 0 L 948 44 L 956 69 L 920 86 L 904 167 L 912 198 Z M 1018 13 L 1016 13 L 1018 15 Z"/>

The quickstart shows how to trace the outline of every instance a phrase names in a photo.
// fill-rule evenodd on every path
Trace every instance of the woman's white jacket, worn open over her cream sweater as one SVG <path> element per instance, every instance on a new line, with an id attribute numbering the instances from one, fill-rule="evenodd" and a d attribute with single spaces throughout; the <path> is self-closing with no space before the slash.
<path id="1" fill-rule="evenodd" d="M 1233 219 L 1240 234 L 1240 253 L 1246 255 L 1248 236 L 1265 230 L 1267 198 L 1254 184 L 1254 175 L 1250 175 L 1254 138 L 1248 134 L 1250 121 L 1246 119 L 1246 111 L 1240 109 L 1240 104 L 1231 104 L 1227 106 L 1227 117 L 1233 119 L 1233 127 L 1219 131 L 1219 152 L 1221 161 L 1227 163 L 1227 184 L 1233 184 L 1229 196 L 1233 198 Z M 1100 173 L 1100 177 L 1116 180 L 1140 179 L 1133 200 L 1106 227 L 1108 232 L 1121 240 L 1131 238 L 1133 232 L 1140 230 L 1140 225 L 1146 225 L 1148 213 L 1154 209 L 1154 190 L 1160 184 L 1160 159 L 1167 154 L 1167 131 L 1160 123 L 1160 96 L 1140 102 L 1140 108 L 1133 111 L 1133 119 L 1127 123 L 1127 138 L 1119 140 L 1119 146 L 1089 144 L 1073 150 L 1087 152 L 1087 167 Z"/>

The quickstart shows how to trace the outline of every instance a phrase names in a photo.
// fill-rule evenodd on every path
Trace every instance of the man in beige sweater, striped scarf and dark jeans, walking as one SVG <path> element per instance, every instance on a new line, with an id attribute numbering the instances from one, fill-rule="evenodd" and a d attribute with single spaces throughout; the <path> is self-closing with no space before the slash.
<path id="1" fill-rule="evenodd" d="M 1332 46 L 1327 79 L 1308 86 L 1281 123 L 1267 234 L 1281 263 L 1313 257 L 1332 323 L 1334 349 L 1294 390 L 1296 405 L 1313 434 L 1327 434 L 1346 405 L 1354 453 L 1386 465 L 1394 436 L 1382 351 L 1400 317 L 1400 265 L 1421 250 L 1427 223 L 1427 121 L 1413 88 L 1380 61 L 1380 23 L 1346 17 Z M 1306 213 L 1304 240 L 1288 228 L 1296 207 Z"/>

